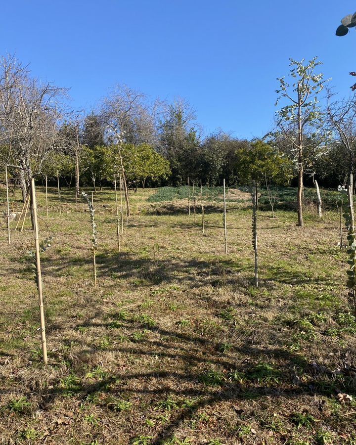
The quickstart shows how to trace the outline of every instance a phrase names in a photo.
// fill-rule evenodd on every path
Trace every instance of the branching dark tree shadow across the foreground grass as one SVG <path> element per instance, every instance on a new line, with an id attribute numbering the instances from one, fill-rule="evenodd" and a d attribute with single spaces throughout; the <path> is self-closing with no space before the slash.
<path id="1" fill-rule="evenodd" d="M 115 314 L 112 314 L 115 319 Z M 57 397 L 65 396 L 68 391 L 74 393 L 76 399 L 86 400 L 88 396 L 102 394 L 111 397 L 123 395 L 148 399 L 147 416 L 152 409 L 160 408 L 159 401 L 173 399 L 176 403 L 170 411 L 168 423 L 157 425 L 151 444 L 160 444 L 174 436 L 182 422 L 192 420 L 197 411 L 208 407 L 213 409 L 216 403 L 230 402 L 231 405 L 249 400 L 297 399 L 302 396 L 334 396 L 335 391 L 343 385 L 343 391 L 355 394 L 355 379 L 352 373 L 354 365 L 345 366 L 342 380 L 334 370 L 317 363 L 310 363 L 306 358 L 291 353 L 281 346 L 263 347 L 241 343 L 223 354 L 219 352 L 220 344 L 214 336 L 194 335 L 192 332 L 149 326 L 137 319 L 124 321 L 127 336 L 137 328 L 144 328 L 159 339 L 144 337 L 140 341 L 124 340 L 109 348 L 109 352 L 119 356 L 135 356 L 140 359 L 142 367 L 147 370 L 105 375 L 99 379 L 83 377 L 79 388 L 63 389 L 57 386 L 49 394 L 42 393 L 46 402 L 52 403 Z M 87 327 L 100 328 L 101 324 L 88 323 Z M 115 331 L 111 331 L 115 332 Z M 165 338 L 165 341 L 162 341 Z M 178 342 L 170 340 L 179 339 Z M 78 340 L 77 340 L 78 341 Z M 80 342 L 81 361 L 92 353 L 85 339 Z M 149 369 L 145 357 L 162 357 L 174 359 L 167 369 Z M 352 357 L 355 360 L 355 354 Z M 350 361 L 350 357 L 349 357 Z M 298 374 L 308 376 L 302 383 L 294 382 Z M 145 399 L 146 398 L 146 399 Z M 185 398 L 193 398 L 187 407 Z M 150 407 L 151 404 L 151 407 Z M 107 408 L 103 403 L 103 408 Z M 232 406 L 231 406 L 232 408 Z"/>

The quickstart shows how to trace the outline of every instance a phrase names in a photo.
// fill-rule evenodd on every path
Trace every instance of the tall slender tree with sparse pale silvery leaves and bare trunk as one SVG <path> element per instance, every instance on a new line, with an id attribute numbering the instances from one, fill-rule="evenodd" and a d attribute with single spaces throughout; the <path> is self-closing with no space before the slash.
<path id="1" fill-rule="evenodd" d="M 285 77 L 278 79 L 276 104 L 286 104 L 277 112 L 277 126 L 282 137 L 290 143 L 290 154 L 297 163 L 298 172 L 298 225 L 303 226 L 303 173 L 307 154 L 315 155 L 325 143 L 323 119 L 317 96 L 324 88 L 323 74 L 315 74 L 321 64 L 314 57 L 307 64 L 290 59 L 291 84 Z"/>

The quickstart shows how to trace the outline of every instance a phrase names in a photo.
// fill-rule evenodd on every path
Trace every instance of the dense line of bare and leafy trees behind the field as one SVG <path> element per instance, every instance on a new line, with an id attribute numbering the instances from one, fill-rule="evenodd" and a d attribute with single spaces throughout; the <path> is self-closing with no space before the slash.
<path id="1" fill-rule="evenodd" d="M 41 84 L 12 56 L 2 58 L 0 168 L 7 164 L 24 197 L 32 177 L 55 180 L 57 173 L 77 194 L 81 185 L 112 184 L 114 174 L 122 176 L 126 191 L 177 186 L 188 178 L 207 185 L 223 178 L 229 185 L 317 178 L 337 187 L 355 173 L 356 100 L 335 100 L 328 90 L 324 109 L 314 98 L 307 103 L 324 87 L 318 65 L 316 59 L 291 61 L 300 115 L 289 95 L 293 86 L 281 78 L 278 100 L 290 98 L 291 105 L 283 104 L 273 132 L 244 140 L 223 132 L 203 136 L 187 101 L 152 102 L 127 86 L 111 89 L 94 111 L 76 113 L 68 109 L 65 89 Z"/>

